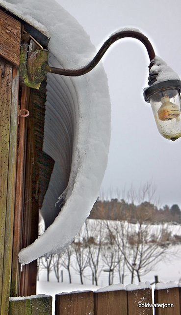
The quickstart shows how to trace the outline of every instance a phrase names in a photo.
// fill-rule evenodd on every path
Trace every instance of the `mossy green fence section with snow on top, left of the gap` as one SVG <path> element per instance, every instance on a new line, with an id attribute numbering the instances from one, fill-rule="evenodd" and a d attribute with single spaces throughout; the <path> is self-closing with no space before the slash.
<path id="1" fill-rule="evenodd" d="M 9 315 L 52 315 L 52 296 L 10 298 Z"/>

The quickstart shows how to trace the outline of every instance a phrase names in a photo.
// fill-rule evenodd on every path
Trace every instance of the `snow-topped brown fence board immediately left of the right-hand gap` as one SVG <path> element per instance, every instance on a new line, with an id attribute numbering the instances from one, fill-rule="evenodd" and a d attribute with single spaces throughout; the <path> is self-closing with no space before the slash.
<path id="1" fill-rule="evenodd" d="M 153 303 L 151 286 L 147 284 L 129 284 L 126 288 L 128 315 L 153 315 L 153 308 L 150 305 Z"/>

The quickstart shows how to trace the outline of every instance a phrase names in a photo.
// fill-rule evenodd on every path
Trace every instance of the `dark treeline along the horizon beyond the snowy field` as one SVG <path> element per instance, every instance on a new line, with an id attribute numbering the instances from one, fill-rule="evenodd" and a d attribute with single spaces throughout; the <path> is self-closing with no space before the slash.
<path id="1" fill-rule="evenodd" d="M 157 208 L 153 203 L 144 201 L 139 205 L 126 202 L 124 199 L 98 200 L 94 204 L 89 219 L 119 220 L 136 223 L 140 220 L 152 223 L 181 223 L 181 209 L 177 204 Z"/>

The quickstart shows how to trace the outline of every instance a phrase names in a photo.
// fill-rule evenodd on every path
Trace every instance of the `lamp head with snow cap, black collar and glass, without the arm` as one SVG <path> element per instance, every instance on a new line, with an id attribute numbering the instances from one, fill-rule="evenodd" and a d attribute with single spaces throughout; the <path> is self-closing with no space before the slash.
<path id="1" fill-rule="evenodd" d="M 144 98 L 150 102 L 159 133 L 175 141 L 181 137 L 181 80 L 160 58 L 150 64 L 149 88 Z"/>

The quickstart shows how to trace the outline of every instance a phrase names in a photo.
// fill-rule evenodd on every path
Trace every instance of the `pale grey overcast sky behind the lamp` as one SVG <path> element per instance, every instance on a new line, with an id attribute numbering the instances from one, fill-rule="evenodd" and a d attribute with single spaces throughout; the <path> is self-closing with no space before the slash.
<path id="1" fill-rule="evenodd" d="M 112 32 L 138 28 L 155 53 L 181 76 L 180 0 L 57 0 L 90 35 L 97 50 Z M 61 32 L 61 30 L 60 30 Z M 112 136 L 102 191 L 129 190 L 153 182 L 160 205 L 181 207 L 181 138 L 164 139 L 157 131 L 148 86 L 149 57 L 142 43 L 122 39 L 103 57 L 112 104 Z M 83 64 L 82 64 L 83 65 Z"/>

